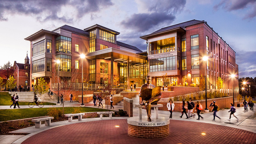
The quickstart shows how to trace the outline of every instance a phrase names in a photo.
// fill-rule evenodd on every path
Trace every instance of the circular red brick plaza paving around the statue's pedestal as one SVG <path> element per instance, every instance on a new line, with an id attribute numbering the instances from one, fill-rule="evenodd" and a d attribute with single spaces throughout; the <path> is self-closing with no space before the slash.
<path id="1" fill-rule="evenodd" d="M 120 127 L 115 127 L 119 125 Z M 40 132 L 22 144 L 255 144 L 256 133 L 232 127 L 170 120 L 170 135 L 163 139 L 139 139 L 128 136 L 126 119 L 69 124 Z M 202 135 L 201 133 L 206 133 Z"/>

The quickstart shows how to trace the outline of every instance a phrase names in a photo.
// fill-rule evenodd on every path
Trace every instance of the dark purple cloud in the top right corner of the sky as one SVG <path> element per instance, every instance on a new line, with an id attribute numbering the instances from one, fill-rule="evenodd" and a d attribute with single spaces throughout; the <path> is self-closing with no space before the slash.
<path id="1" fill-rule="evenodd" d="M 240 9 L 248 9 L 244 11 L 245 19 L 252 19 L 256 16 L 256 1 L 255 0 L 222 0 L 219 4 L 215 5 L 213 9 L 218 10 L 219 7 L 227 11 L 236 11 Z"/>

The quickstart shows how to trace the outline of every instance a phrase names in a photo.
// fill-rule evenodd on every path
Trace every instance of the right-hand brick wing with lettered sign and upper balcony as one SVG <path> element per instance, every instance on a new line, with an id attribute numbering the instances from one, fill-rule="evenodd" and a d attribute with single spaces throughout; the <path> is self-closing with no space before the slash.
<path id="1" fill-rule="evenodd" d="M 223 92 L 238 94 L 236 52 L 204 20 L 190 20 L 141 36 L 147 41 L 152 84 L 199 84 L 207 75 L 207 88 L 217 88 L 221 77 Z M 203 57 L 208 60 L 203 60 Z M 231 75 L 236 75 L 231 78 Z"/>

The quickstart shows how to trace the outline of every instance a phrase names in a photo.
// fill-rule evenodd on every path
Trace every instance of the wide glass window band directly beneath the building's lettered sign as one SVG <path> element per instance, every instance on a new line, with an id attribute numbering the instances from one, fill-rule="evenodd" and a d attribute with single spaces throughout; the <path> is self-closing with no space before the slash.
<path id="1" fill-rule="evenodd" d="M 175 70 L 175 56 L 149 60 L 150 72 Z"/>

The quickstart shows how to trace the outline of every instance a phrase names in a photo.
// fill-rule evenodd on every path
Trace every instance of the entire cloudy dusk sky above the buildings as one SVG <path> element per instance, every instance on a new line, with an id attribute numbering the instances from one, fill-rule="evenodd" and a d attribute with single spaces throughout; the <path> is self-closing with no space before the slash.
<path id="1" fill-rule="evenodd" d="M 140 36 L 193 19 L 207 21 L 236 51 L 239 77 L 256 76 L 255 0 L 0 0 L 0 66 L 24 63 L 30 47 L 24 38 L 40 29 L 97 23 L 145 51 Z"/>

